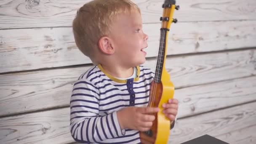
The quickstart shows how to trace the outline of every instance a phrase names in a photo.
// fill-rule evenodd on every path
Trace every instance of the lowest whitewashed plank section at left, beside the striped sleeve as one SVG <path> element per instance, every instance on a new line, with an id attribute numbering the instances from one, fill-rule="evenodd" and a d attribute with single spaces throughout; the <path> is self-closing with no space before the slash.
<path id="1" fill-rule="evenodd" d="M 42 101 L 43 102 L 43 101 Z M 64 144 L 72 142 L 69 108 L 0 119 L 1 144 Z"/>

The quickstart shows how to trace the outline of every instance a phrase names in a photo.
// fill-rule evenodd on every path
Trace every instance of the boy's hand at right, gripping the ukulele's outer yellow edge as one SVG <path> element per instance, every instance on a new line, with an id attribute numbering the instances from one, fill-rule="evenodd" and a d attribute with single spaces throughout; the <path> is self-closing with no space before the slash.
<path id="1" fill-rule="evenodd" d="M 169 99 L 167 104 L 163 104 L 163 113 L 171 121 L 175 120 L 175 117 L 178 113 L 178 103 L 179 101 L 177 99 Z"/>

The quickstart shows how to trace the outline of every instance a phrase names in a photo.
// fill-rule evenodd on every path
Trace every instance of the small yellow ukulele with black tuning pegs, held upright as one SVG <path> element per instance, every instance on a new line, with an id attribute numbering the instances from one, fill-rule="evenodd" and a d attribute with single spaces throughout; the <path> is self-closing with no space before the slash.
<path id="1" fill-rule="evenodd" d="M 179 10 L 179 5 L 175 5 L 176 0 L 165 0 L 163 4 L 162 27 L 160 29 L 160 45 L 157 56 L 155 77 L 150 86 L 148 107 L 159 107 L 160 111 L 155 115 L 151 129 L 147 132 L 140 132 L 142 144 L 167 144 L 170 135 L 171 122 L 163 114 L 162 105 L 173 98 L 174 86 L 170 81 L 170 75 L 165 69 L 165 59 L 167 53 L 168 32 L 171 24 L 177 22 L 173 19 L 174 10 Z"/>

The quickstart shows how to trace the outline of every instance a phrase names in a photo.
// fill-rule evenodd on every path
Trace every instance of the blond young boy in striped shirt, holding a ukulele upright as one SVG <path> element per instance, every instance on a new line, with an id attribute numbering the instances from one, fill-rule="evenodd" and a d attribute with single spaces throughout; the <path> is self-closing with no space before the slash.
<path id="1" fill-rule="evenodd" d="M 77 47 L 95 66 L 75 82 L 70 99 L 70 131 L 75 141 L 138 144 L 158 108 L 147 107 L 154 73 L 145 62 L 148 36 L 141 13 L 130 0 L 93 0 L 73 21 Z M 178 101 L 163 111 L 174 121 Z"/>

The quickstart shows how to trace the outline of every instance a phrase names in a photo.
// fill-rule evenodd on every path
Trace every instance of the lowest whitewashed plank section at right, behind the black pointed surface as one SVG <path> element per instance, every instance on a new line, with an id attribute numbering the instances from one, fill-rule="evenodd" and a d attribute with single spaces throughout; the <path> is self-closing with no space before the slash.
<path id="1" fill-rule="evenodd" d="M 256 102 L 185 118 L 176 124 L 170 144 L 180 144 L 205 134 L 229 144 L 255 144 Z"/>

